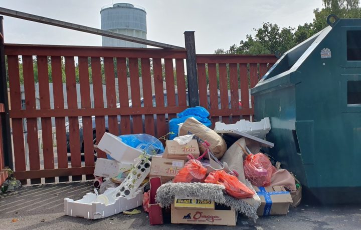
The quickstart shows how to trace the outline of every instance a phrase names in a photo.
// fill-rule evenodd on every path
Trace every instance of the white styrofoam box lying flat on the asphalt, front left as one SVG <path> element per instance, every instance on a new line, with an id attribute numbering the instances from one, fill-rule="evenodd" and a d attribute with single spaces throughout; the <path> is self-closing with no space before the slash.
<path id="1" fill-rule="evenodd" d="M 96 197 L 97 195 L 95 193 L 89 192 L 84 195 L 82 199 L 76 201 L 70 198 L 65 198 L 65 214 L 70 216 L 84 217 L 87 219 L 99 219 L 135 208 L 141 205 L 143 202 L 143 192 L 141 190 L 137 190 L 134 193 L 133 198 L 127 199 L 124 196 L 118 196 L 113 200 L 113 202 L 108 204 L 102 202 L 93 202 Z"/>

